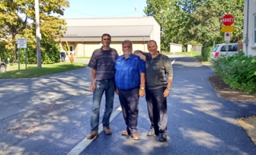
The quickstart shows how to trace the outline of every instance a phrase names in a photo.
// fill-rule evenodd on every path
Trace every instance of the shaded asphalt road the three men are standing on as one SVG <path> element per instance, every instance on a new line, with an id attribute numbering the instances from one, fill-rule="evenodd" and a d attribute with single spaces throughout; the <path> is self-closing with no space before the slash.
<path id="1" fill-rule="evenodd" d="M 40 78 L 0 79 L 0 154 L 255 154 L 236 118 L 255 114 L 256 103 L 218 97 L 208 81 L 214 74 L 210 67 L 194 58 L 175 59 L 167 142 L 146 137 L 150 121 L 145 97 L 139 101 L 141 140 L 121 136 L 126 127 L 117 95 L 113 134 L 87 141 L 92 93 L 85 67 Z"/>

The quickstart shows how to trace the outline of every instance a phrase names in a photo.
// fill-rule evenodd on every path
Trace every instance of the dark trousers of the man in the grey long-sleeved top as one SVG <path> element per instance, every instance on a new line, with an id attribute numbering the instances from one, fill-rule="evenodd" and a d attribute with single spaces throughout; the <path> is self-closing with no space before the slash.
<path id="1" fill-rule="evenodd" d="M 149 117 L 151 121 L 151 128 L 154 132 L 167 134 L 167 101 L 163 97 L 163 92 L 166 87 L 159 89 L 146 89 L 146 102 Z"/>

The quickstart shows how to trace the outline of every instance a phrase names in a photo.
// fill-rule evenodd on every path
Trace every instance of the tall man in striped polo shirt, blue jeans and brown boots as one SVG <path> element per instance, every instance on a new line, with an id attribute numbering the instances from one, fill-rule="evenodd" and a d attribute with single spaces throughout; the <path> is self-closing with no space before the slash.
<path id="1" fill-rule="evenodd" d="M 91 132 L 87 135 L 87 139 L 98 136 L 99 110 L 103 93 L 106 97 L 106 108 L 102 118 L 103 130 L 106 134 L 112 133 L 110 115 L 114 104 L 114 61 L 118 57 L 118 52 L 110 48 L 110 43 L 110 34 L 102 34 L 102 48 L 94 50 L 88 64 L 91 68 L 90 90 L 94 93 L 90 116 Z"/>

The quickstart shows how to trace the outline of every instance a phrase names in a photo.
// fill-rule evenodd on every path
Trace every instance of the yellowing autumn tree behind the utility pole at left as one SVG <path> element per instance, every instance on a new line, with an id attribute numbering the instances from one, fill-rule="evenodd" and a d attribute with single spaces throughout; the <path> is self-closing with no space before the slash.
<path id="1" fill-rule="evenodd" d="M 40 0 L 40 29 L 42 39 L 54 41 L 61 38 L 65 20 L 59 18 L 69 6 L 66 0 Z M 17 61 L 17 38 L 26 38 L 27 44 L 35 48 L 34 0 L 2 0 L 0 3 L 0 38 L 6 50 L 12 50 L 13 62 Z M 44 47 L 42 46 L 42 50 Z"/>

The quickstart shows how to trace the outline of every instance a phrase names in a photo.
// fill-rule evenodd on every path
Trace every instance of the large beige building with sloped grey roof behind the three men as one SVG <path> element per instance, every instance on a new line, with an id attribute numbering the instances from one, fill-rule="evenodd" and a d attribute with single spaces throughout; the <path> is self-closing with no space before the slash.
<path id="1" fill-rule="evenodd" d="M 134 18 L 66 18 L 66 34 L 62 43 L 68 42 L 75 57 L 90 57 L 100 48 L 102 34 L 110 34 L 110 47 L 122 54 L 122 41 L 133 42 L 134 50 L 147 51 L 146 42 L 153 39 L 160 50 L 160 26 L 153 17 Z M 58 42 L 56 40 L 56 42 Z"/>

